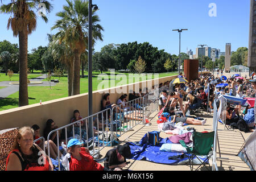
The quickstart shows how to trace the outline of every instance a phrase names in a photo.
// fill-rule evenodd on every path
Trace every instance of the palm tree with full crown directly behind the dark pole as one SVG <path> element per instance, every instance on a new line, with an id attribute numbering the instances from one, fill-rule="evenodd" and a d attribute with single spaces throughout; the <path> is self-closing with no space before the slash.
<path id="1" fill-rule="evenodd" d="M 73 84 L 72 96 L 80 94 L 80 69 L 81 69 L 81 55 L 88 47 L 88 16 L 89 16 L 89 2 L 84 0 L 66 0 L 68 5 L 63 6 L 63 11 L 56 14 L 60 20 L 57 20 L 52 30 L 58 29 L 59 32 L 55 35 L 60 43 L 64 42 L 73 52 Z M 93 42 L 102 40 L 100 19 L 93 11 Z"/>

